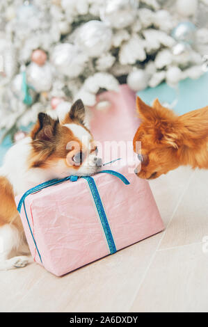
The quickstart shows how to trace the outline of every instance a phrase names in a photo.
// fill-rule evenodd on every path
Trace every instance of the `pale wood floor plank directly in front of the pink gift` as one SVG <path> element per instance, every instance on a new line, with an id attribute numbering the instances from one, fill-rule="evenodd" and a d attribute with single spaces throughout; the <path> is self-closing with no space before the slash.
<path id="1" fill-rule="evenodd" d="M 15 312 L 126 311 L 161 239 L 159 233 L 62 278 L 45 274 Z"/>

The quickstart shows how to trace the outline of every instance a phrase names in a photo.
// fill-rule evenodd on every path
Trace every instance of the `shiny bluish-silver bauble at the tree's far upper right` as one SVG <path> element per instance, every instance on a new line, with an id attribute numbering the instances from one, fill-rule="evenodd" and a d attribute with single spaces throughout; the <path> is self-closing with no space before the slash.
<path id="1" fill-rule="evenodd" d="M 196 27 L 191 22 L 181 22 L 173 29 L 171 36 L 180 42 L 195 42 Z"/>

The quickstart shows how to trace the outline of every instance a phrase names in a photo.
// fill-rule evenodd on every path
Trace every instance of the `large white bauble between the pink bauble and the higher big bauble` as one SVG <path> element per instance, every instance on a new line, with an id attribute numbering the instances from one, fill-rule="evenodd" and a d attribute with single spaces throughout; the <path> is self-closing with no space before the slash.
<path id="1" fill-rule="evenodd" d="M 86 54 L 77 45 L 70 43 L 56 45 L 51 55 L 51 63 L 55 65 L 58 72 L 68 77 L 79 76 L 86 61 Z"/>

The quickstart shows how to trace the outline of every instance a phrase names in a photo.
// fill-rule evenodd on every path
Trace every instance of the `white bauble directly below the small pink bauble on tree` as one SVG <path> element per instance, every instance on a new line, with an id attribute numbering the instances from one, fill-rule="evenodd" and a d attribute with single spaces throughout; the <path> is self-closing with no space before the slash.
<path id="1" fill-rule="evenodd" d="M 26 70 L 27 81 L 36 92 L 48 91 L 52 84 L 52 69 L 49 63 L 39 66 L 36 63 L 30 63 Z"/>

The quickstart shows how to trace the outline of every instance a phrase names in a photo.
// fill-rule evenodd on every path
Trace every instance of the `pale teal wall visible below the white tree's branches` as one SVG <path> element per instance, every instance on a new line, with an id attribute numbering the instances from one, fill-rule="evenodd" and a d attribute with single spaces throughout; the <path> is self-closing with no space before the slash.
<path id="1" fill-rule="evenodd" d="M 200 77 L 200 79 L 185 79 L 184 81 L 180 81 L 178 90 L 170 88 L 166 83 L 161 83 L 155 88 L 146 88 L 137 94 L 147 104 L 151 104 L 157 97 L 160 102 L 168 102 L 169 104 L 175 99 L 178 99 L 174 110 L 179 115 L 182 115 L 183 113 L 208 105 L 208 72 Z M 6 136 L 0 145 L 0 166 L 4 154 L 11 145 L 12 140 L 10 136 Z"/>

